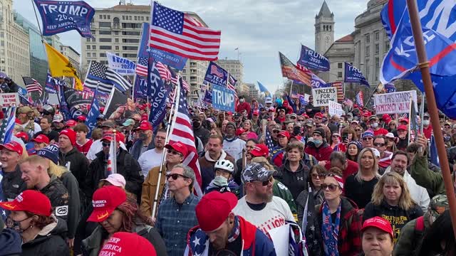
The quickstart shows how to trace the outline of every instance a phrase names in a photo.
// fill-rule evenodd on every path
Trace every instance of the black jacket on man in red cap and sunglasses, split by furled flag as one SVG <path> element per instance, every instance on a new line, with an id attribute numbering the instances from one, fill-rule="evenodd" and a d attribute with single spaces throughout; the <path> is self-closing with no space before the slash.
<path id="1" fill-rule="evenodd" d="M 87 185 L 85 191 L 86 196 L 90 198 L 92 198 L 93 192 L 98 188 L 100 179 L 108 177 L 108 175 L 106 175 L 108 161 L 105 159 L 105 154 L 103 151 L 100 151 L 95 156 L 97 156 L 97 158 L 88 166 L 88 174 L 85 181 Z M 117 173 L 121 174 L 125 178 L 125 181 L 127 181 L 125 189 L 138 196 L 138 198 L 141 198 L 141 188 L 144 177 L 142 176 L 140 164 L 122 148 L 119 148 L 117 156 Z"/>

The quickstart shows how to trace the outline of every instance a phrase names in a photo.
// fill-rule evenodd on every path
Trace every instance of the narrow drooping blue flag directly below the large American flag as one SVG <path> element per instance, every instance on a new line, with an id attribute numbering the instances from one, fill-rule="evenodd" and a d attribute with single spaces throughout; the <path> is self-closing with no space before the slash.
<path id="1" fill-rule="evenodd" d="M 163 121 L 166 114 L 166 99 L 171 91 L 171 86 L 165 85 L 158 72 L 157 62 L 149 59 L 149 71 L 147 73 L 147 92 L 150 92 L 150 115 L 149 122 L 152 127 L 157 127 Z M 152 62 L 151 62 L 152 61 Z"/>

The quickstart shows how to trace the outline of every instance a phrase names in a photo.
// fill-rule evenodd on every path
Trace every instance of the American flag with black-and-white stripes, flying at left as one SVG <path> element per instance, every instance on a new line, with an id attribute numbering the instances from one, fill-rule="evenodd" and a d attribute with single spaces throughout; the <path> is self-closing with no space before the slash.
<path id="1" fill-rule="evenodd" d="M 122 75 L 105 65 L 92 60 L 88 68 L 84 86 L 91 90 L 96 90 L 97 85 L 98 91 L 105 93 L 110 93 L 113 89 L 113 85 L 121 92 L 125 92 L 131 87 L 130 82 L 123 78 Z"/>

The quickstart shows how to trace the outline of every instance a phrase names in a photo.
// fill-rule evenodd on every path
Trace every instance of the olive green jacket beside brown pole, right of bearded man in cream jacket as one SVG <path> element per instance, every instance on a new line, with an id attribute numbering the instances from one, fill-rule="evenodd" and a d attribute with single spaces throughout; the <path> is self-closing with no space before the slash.
<path id="1" fill-rule="evenodd" d="M 415 156 L 410 166 L 410 175 L 419 186 L 432 191 L 433 195 L 445 194 L 445 184 L 441 173 L 431 171 L 427 164 L 427 152 L 423 156 Z"/>

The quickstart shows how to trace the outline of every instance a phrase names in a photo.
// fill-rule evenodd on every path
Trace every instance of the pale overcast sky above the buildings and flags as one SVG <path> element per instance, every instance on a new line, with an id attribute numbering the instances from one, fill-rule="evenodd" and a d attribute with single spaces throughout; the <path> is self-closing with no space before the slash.
<path id="1" fill-rule="evenodd" d="M 118 4 L 116 0 L 86 2 L 93 8 Z M 356 16 L 367 6 L 367 1 L 360 0 L 326 2 L 335 16 L 336 40 L 353 32 Z M 221 30 L 219 58 L 237 59 L 234 48 L 239 47 L 244 63 L 244 82 L 259 80 L 273 93 L 283 84 L 278 51 L 295 62 L 300 43 L 314 48 L 315 16 L 322 3 L 323 0 L 160 1 L 160 4 L 172 9 L 193 11 L 209 28 Z M 135 0 L 133 4 L 150 4 L 150 1 Z M 31 1 L 15 0 L 14 9 L 36 23 Z M 59 36 L 63 44 L 81 50 L 81 37 L 77 32 L 61 33 Z"/>

